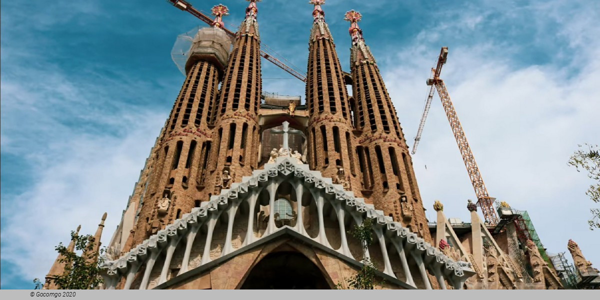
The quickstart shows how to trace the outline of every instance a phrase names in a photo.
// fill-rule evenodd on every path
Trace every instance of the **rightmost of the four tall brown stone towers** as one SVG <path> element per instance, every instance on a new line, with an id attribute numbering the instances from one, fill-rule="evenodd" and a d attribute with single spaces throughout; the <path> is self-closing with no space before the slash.
<path id="1" fill-rule="evenodd" d="M 406 139 L 376 60 L 358 26 L 361 19 L 361 13 L 354 10 L 344 17 L 350 22 L 352 37 L 350 68 L 358 108 L 357 152 L 362 188 L 368 191 L 368 198 L 377 209 L 431 241 Z"/>

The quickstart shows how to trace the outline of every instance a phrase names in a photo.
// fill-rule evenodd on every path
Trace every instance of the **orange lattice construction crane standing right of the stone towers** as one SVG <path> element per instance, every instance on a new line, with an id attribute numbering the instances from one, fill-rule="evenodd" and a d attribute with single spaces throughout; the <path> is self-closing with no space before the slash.
<path id="1" fill-rule="evenodd" d="M 425 119 L 427 119 L 427 114 L 431 106 L 431 100 L 433 99 L 435 88 L 437 90 L 437 94 L 440 96 L 440 100 L 442 100 L 442 106 L 446 111 L 446 116 L 448 116 L 448 121 L 450 122 L 452 133 L 454 133 L 454 138 L 456 139 L 456 142 L 458 144 L 460 154 L 463 157 L 464 165 L 467 167 L 467 172 L 469 173 L 471 184 L 473 184 L 473 188 L 475 189 L 475 194 L 477 195 L 477 205 L 481 207 L 481 211 L 484 214 L 485 221 L 490 226 L 495 226 L 499 221 L 499 218 L 493 206 L 494 200 L 496 199 L 490 197 L 487 188 L 485 188 L 484 179 L 481 177 L 479 167 L 475 162 L 475 157 L 473 157 L 473 152 L 469 147 L 469 142 L 467 142 L 467 137 L 464 134 L 463 126 L 460 125 L 460 121 L 458 121 L 458 115 L 456 113 L 456 110 L 454 109 L 454 105 L 452 105 L 452 101 L 450 100 L 450 95 L 448 94 L 446 85 L 444 84 L 444 81 L 440 79 L 442 66 L 446 64 L 447 59 L 448 47 L 442 47 L 440 56 L 439 58 L 437 58 L 437 67 L 435 69 L 431 69 L 431 73 L 433 73 L 433 78 L 427 80 L 427 85 L 431 86 L 431 89 L 427 97 L 427 103 L 425 103 L 425 110 L 421 118 L 421 124 L 419 125 L 419 130 L 415 137 L 415 145 L 413 146 L 412 154 L 415 154 L 416 147 L 419 145 L 419 140 L 421 140 L 421 134 L 425 125 Z"/>

